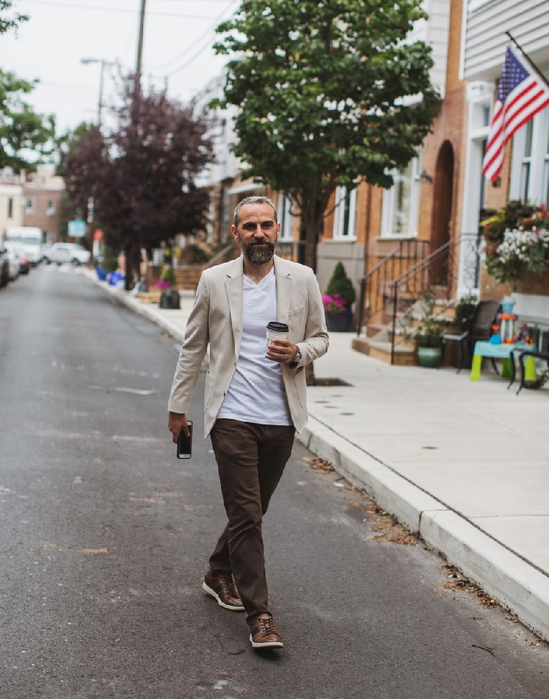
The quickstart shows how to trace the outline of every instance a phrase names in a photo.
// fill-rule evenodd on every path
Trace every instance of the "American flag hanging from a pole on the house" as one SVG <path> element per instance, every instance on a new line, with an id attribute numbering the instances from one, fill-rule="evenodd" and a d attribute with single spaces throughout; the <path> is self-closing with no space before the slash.
<path id="1" fill-rule="evenodd" d="M 483 175 L 486 178 L 492 182 L 497 178 L 509 138 L 548 104 L 549 85 L 520 55 L 518 49 L 509 45 L 483 161 Z"/>

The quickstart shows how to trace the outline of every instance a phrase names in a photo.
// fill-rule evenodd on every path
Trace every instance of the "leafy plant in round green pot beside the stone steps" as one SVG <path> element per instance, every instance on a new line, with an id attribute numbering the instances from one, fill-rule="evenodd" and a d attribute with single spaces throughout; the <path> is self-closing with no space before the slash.
<path id="1" fill-rule="evenodd" d="M 417 316 L 419 311 L 419 318 Z M 417 324 L 414 325 L 414 322 Z M 422 291 L 420 299 L 403 316 L 404 337 L 413 342 L 420 366 L 434 369 L 441 363 L 441 333 L 448 319 L 436 310 L 436 297 L 430 288 Z"/>

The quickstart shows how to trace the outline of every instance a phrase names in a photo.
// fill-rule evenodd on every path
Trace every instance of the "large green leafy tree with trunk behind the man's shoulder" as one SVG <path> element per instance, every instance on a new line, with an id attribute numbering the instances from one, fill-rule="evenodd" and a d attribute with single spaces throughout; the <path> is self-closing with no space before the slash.
<path id="1" fill-rule="evenodd" d="M 390 171 L 422 144 L 439 96 L 431 50 L 406 42 L 421 0 L 243 0 L 220 24 L 229 55 L 221 106 L 236 105 L 234 153 L 245 174 L 285 192 L 301 214 L 315 268 L 322 220 L 336 187 Z"/>

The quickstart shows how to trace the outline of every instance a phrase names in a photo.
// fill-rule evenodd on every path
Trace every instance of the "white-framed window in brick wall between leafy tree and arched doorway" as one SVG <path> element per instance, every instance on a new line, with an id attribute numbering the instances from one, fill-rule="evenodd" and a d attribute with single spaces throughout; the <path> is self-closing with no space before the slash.
<path id="1" fill-rule="evenodd" d="M 419 159 L 393 173 L 394 185 L 383 192 L 381 234 L 383 238 L 406 238 L 418 234 Z"/>

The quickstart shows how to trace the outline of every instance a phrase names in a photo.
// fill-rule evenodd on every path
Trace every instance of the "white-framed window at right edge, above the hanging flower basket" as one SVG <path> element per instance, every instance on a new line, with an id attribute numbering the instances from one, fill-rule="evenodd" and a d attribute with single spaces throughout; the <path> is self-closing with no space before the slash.
<path id="1" fill-rule="evenodd" d="M 528 124 L 531 124 L 530 127 Z M 528 128 L 532 129 L 532 147 L 525 155 Z M 511 182 L 509 199 L 528 199 L 534 204 L 549 203 L 549 107 L 536 114 L 531 122 L 521 127 L 513 136 Z M 524 172 L 529 166 L 529 178 L 525 187 Z"/>

